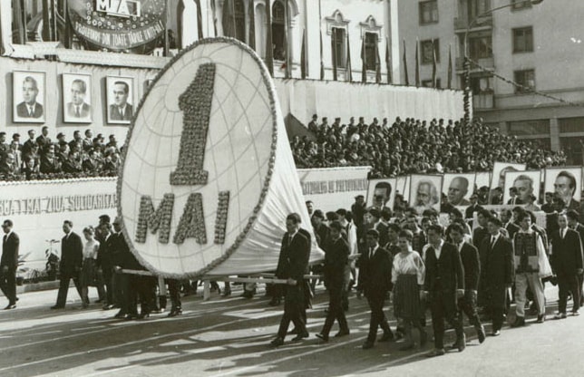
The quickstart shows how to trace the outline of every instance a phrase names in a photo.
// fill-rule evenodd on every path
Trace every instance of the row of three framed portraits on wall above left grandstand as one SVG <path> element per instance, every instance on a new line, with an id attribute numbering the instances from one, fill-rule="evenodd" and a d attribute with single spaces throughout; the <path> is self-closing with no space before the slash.
<path id="1" fill-rule="evenodd" d="M 63 121 L 91 123 L 94 104 L 92 75 L 63 73 L 62 76 Z M 107 123 L 130 124 L 134 111 L 134 79 L 107 76 L 105 80 Z M 13 121 L 15 123 L 44 123 L 47 89 L 46 73 L 13 72 Z"/>

